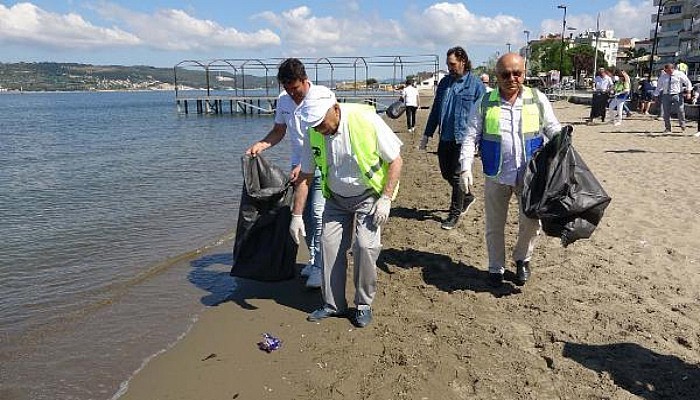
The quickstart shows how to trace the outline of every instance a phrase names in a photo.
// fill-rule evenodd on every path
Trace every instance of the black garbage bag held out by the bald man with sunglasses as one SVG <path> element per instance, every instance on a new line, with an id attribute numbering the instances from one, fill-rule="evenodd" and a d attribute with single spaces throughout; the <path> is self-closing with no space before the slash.
<path id="1" fill-rule="evenodd" d="M 525 215 L 564 247 L 589 238 L 611 200 L 571 144 L 572 132 L 563 127 L 530 160 L 521 198 Z"/>

